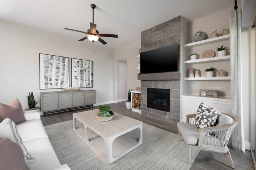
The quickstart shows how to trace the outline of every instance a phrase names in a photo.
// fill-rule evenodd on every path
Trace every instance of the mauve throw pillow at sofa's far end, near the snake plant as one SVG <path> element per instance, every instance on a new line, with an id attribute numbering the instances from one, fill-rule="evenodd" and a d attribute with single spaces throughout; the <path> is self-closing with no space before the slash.
<path id="1" fill-rule="evenodd" d="M 9 104 L 0 103 L 0 122 L 10 118 L 15 124 L 26 121 L 20 101 L 16 98 Z"/>

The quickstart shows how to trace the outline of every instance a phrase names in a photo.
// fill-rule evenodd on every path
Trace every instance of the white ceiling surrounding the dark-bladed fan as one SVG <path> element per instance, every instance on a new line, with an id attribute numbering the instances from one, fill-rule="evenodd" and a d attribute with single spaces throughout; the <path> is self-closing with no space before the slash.
<path id="1" fill-rule="evenodd" d="M 188 22 L 234 6 L 234 0 L 1 0 L 0 18 L 10 22 L 61 34 L 74 41 L 84 34 L 64 30 L 86 31 L 92 22 L 105 34 L 108 44 L 94 45 L 116 48 L 140 39 L 140 32 L 182 15 Z M 85 40 L 81 43 L 88 43 Z"/>

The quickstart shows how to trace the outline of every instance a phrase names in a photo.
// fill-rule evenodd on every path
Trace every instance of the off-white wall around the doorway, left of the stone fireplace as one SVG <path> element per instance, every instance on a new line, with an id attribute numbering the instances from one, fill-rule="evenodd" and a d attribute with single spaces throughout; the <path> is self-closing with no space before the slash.
<path id="1" fill-rule="evenodd" d="M 137 80 L 137 74 L 140 70 L 137 69 L 140 61 L 138 51 L 140 47 L 140 40 L 121 46 L 114 49 L 114 100 L 117 100 L 117 62 L 119 60 L 127 59 L 127 90 L 136 90 L 140 87 L 140 81 Z"/>

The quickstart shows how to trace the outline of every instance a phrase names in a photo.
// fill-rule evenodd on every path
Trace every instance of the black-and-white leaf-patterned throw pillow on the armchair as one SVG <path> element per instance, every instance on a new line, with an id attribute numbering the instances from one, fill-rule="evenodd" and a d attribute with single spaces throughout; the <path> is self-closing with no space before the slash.
<path id="1" fill-rule="evenodd" d="M 200 129 L 214 126 L 217 116 L 218 114 L 214 106 L 210 108 L 202 102 L 196 112 L 196 127 Z"/>

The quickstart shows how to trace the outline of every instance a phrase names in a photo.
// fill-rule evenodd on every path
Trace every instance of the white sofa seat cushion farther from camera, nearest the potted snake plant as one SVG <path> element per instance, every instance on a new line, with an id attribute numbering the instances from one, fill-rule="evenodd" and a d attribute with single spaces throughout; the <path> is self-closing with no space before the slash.
<path id="1" fill-rule="evenodd" d="M 27 120 L 16 125 L 23 142 L 39 138 L 48 138 L 40 119 Z"/>

